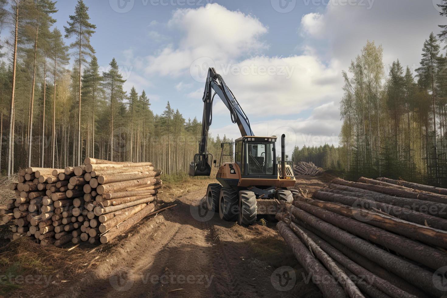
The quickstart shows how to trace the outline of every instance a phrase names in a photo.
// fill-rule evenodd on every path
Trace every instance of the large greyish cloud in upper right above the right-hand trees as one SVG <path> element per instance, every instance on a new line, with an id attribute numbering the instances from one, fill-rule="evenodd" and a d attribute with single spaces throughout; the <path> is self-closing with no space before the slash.
<path id="1" fill-rule="evenodd" d="M 302 17 L 300 33 L 306 37 L 306 46 L 318 48 L 324 59 L 337 59 L 345 70 L 367 40 L 382 44 L 385 66 L 399 59 L 414 70 L 425 39 L 447 23 L 432 2 L 393 0 L 342 6 L 329 1 L 321 13 Z"/>

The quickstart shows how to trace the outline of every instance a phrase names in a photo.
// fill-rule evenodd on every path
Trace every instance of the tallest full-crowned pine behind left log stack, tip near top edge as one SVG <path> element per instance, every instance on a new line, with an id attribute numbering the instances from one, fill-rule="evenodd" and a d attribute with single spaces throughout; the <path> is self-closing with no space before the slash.
<path id="1" fill-rule="evenodd" d="M 76 37 L 76 40 L 70 44 L 70 49 L 76 49 L 73 55 L 78 59 L 78 77 L 79 77 L 79 100 L 78 100 L 78 148 L 77 148 L 77 164 L 81 163 L 81 65 L 87 63 L 86 57 L 92 57 L 95 54 L 93 46 L 90 44 L 90 38 L 96 25 L 89 22 L 89 8 L 84 4 L 83 0 L 78 0 L 75 7 L 75 14 L 70 16 L 67 21 L 68 27 L 64 26 L 65 38 Z"/>

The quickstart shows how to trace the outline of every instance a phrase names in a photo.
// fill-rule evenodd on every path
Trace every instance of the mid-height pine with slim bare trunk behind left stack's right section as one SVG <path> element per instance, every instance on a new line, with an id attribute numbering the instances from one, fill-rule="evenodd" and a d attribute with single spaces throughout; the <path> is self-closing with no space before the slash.
<path id="1" fill-rule="evenodd" d="M 114 114 L 117 112 L 117 105 L 114 102 L 121 103 L 126 97 L 126 92 L 123 90 L 123 84 L 126 82 L 119 73 L 118 63 L 115 58 L 110 62 L 110 70 L 102 73 L 103 83 L 102 86 L 107 93 L 107 97 L 110 99 L 110 161 L 113 161 L 114 151 Z"/>

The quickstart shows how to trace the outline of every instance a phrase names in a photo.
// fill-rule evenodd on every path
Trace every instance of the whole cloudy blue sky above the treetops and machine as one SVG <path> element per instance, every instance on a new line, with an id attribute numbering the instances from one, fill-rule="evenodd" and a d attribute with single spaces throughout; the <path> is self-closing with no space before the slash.
<path id="1" fill-rule="evenodd" d="M 84 0 L 97 25 L 91 43 L 101 70 L 117 59 L 125 89 L 148 93 L 202 119 L 208 67 L 215 67 L 256 135 L 286 134 L 294 146 L 338 145 L 342 70 L 367 40 L 413 71 L 430 32 L 447 18 L 442 0 Z M 59 29 L 77 0 L 59 0 Z M 211 135 L 240 137 L 221 101 Z"/>

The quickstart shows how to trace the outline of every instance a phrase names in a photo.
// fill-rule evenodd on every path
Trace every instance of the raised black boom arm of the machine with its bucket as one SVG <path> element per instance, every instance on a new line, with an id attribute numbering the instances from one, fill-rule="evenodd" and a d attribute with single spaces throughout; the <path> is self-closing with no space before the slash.
<path id="1" fill-rule="evenodd" d="M 214 91 L 214 94 L 213 94 Z M 208 163 L 208 130 L 211 126 L 213 112 L 212 105 L 214 96 L 218 95 L 225 106 L 230 110 L 231 121 L 239 127 L 241 136 L 254 135 L 250 127 L 249 119 L 237 102 L 222 76 L 216 73 L 214 67 L 208 69 L 207 82 L 203 92 L 203 117 L 202 135 L 199 143 L 199 152 L 194 155 L 194 160 L 190 164 L 190 176 L 210 176 L 211 166 Z"/>

